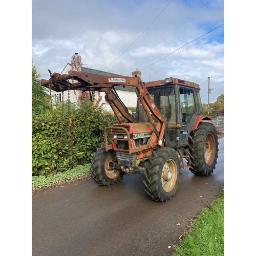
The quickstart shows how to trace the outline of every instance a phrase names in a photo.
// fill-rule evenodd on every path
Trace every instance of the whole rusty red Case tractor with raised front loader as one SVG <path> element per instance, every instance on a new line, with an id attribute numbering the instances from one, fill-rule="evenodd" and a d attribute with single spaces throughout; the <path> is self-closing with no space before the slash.
<path id="1" fill-rule="evenodd" d="M 77 82 L 70 83 L 69 79 Z M 140 173 L 148 197 L 166 202 L 175 195 L 181 167 L 201 176 L 208 176 L 215 169 L 217 131 L 210 123 L 212 118 L 202 115 L 197 83 L 172 77 L 146 83 L 140 77 L 71 70 L 67 75 L 50 74 L 50 79 L 42 79 L 41 84 L 56 92 L 105 93 L 120 123 L 105 128 L 105 145 L 97 148 L 91 161 L 92 177 L 99 185 L 110 186 L 124 174 Z M 119 98 L 116 86 L 135 87 L 138 98 L 135 117 Z"/>

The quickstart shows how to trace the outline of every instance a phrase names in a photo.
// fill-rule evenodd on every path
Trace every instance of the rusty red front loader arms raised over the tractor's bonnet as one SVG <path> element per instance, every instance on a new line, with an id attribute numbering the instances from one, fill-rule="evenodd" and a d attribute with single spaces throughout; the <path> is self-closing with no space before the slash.
<path id="1" fill-rule="evenodd" d="M 87 72 L 69 71 L 69 74 L 60 75 L 58 73 L 50 74 L 50 79 L 41 80 L 41 85 L 47 88 L 51 88 L 56 92 L 62 92 L 67 90 L 80 90 L 80 91 L 100 91 L 105 92 L 106 101 L 109 102 L 113 112 L 118 118 L 119 122 L 122 123 L 116 109 L 121 115 L 126 118 L 129 122 L 134 122 L 133 116 L 128 112 L 126 106 L 123 104 L 121 99 L 115 92 L 114 87 L 116 86 L 130 86 L 136 88 L 136 94 L 139 98 L 144 111 L 154 126 L 156 136 L 158 137 L 158 144 L 163 146 L 163 136 L 165 129 L 165 120 L 158 110 L 156 104 L 151 98 L 150 94 L 146 89 L 146 83 L 142 82 L 140 77 L 129 77 L 129 76 L 105 76 Z M 76 80 L 77 82 L 71 83 L 69 80 Z M 157 81 L 155 81 L 157 83 Z M 159 81 L 159 83 L 162 82 Z M 159 120 L 155 125 L 155 122 L 151 116 L 151 113 Z"/>

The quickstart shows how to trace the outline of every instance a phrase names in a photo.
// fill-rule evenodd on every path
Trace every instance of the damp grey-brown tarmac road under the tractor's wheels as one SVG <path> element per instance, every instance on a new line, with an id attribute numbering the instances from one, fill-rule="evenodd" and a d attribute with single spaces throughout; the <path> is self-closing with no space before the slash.
<path id="1" fill-rule="evenodd" d="M 224 186 L 223 142 L 219 139 L 214 173 L 200 177 L 182 169 L 179 188 L 168 202 L 150 200 L 140 174 L 125 175 L 110 187 L 91 178 L 34 194 L 32 255 L 170 254 L 190 219 Z"/>

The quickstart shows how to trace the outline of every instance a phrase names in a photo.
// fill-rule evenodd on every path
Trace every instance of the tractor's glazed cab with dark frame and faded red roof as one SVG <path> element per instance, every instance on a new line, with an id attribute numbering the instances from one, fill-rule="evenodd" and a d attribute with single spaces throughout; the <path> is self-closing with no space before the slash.
<path id="1" fill-rule="evenodd" d="M 152 86 L 146 84 L 147 91 L 166 121 L 165 146 L 182 147 L 187 143 L 196 116 L 202 115 L 199 85 L 176 78 L 166 78 L 169 84 Z M 136 122 L 149 122 L 138 102 Z M 141 113 L 143 112 L 143 114 Z M 152 116 L 155 122 L 158 120 Z"/>

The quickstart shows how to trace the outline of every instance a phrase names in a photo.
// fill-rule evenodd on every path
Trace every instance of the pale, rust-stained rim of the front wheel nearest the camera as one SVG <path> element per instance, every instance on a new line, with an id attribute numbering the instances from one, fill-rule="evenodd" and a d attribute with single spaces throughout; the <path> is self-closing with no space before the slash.
<path id="1" fill-rule="evenodd" d="M 162 169 L 162 187 L 166 192 L 171 191 L 177 181 L 178 168 L 177 164 L 173 159 L 169 159 L 163 166 Z"/>

